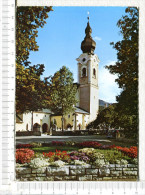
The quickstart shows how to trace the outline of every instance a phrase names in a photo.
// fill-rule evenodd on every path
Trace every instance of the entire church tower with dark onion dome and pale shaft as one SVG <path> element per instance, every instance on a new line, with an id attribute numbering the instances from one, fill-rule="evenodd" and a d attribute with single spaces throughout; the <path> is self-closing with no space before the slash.
<path id="1" fill-rule="evenodd" d="M 80 108 L 90 113 L 89 122 L 96 119 L 99 109 L 98 97 L 98 64 L 99 58 L 94 54 L 96 42 L 91 37 L 92 29 L 89 23 L 85 29 L 85 38 L 81 43 L 82 54 L 78 61 L 78 82 L 80 84 Z"/>

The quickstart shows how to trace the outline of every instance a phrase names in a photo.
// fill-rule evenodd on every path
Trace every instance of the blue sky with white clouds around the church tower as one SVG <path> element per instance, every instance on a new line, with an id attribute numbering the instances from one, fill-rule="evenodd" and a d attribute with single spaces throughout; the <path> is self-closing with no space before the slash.
<path id="1" fill-rule="evenodd" d="M 117 27 L 118 20 L 125 15 L 125 7 L 53 7 L 43 28 L 38 29 L 36 39 L 39 51 L 30 52 L 32 65 L 44 64 L 44 77 L 53 75 L 63 65 L 73 72 L 74 82 L 77 82 L 77 61 L 81 54 L 81 42 L 85 37 L 87 16 L 89 12 L 92 38 L 96 42 L 95 54 L 99 63 L 99 99 L 114 103 L 120 94 L 115 79 L 106 65 L 117 61 L 116 50 L 110 42 L 122 40 Z"/>

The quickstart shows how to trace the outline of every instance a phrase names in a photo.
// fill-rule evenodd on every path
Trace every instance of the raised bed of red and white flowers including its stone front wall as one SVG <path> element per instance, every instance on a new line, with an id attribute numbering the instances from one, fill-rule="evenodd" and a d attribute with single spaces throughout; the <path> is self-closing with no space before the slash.
<path id="1" fill-rule="evenodd" d="M 56 150 L 34 153 L 28 148 L 16 149 L 17 179 L 95 181 L 137 178 L 137 147 L 104 147 L 96 142 L 80 144 L 82 147 L 84 145 L 88 147 L 70 152 Z"/>

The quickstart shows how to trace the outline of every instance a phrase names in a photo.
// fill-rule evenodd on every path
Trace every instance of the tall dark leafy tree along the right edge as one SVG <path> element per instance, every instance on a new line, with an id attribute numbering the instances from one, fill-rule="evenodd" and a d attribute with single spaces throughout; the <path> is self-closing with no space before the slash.
<path id="1" fill-rule="evenodd" d="M 116 97 L 118 102 L 116 112 L 120 118 L 127 117 L 129 122 L 133 118 L 132 124 L 128 126 L 126 132 L 130 136 L 137 137 L 138 132 L 138 9 L 127 8 L 126 15 L 117 23 L 120 33 L 123 36 L 121 41 L 111 43 L 117 50 L 117 62 L 115 65 L 106 66 L 112 74 L 117 74 L 116 82 L 122 89 L 120 95 Z M 122 123 L 123 124 L 123 123 Z M 134 126 L 134 127 L 133 127 Z M 134 130 L 133 130 L 134 128 Z"/>

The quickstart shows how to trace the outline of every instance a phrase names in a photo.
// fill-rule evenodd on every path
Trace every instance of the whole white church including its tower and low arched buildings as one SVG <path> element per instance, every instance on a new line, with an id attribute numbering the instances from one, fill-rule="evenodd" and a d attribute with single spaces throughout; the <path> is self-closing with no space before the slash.
<path id="1" fill-rule="evenodd" d="M 65 130 L 85 130 L 87 124 L 95 120 L 99 110 L 98 65 L 99 58 L 94 53 L 96 42 L 92 39 L 89 23 L 85 29 L 85 38 L 81 43 L 82 54 L 76 59 L 78 66 L 78 83 L 75 112 L 64 116 Z M 41 133 L 50 131 L 52 125 L 61 130 L 62 117 L 49 109 L 24 113 L 16 116 L 16 131 L 34 131 L 39 126 Z"/>

